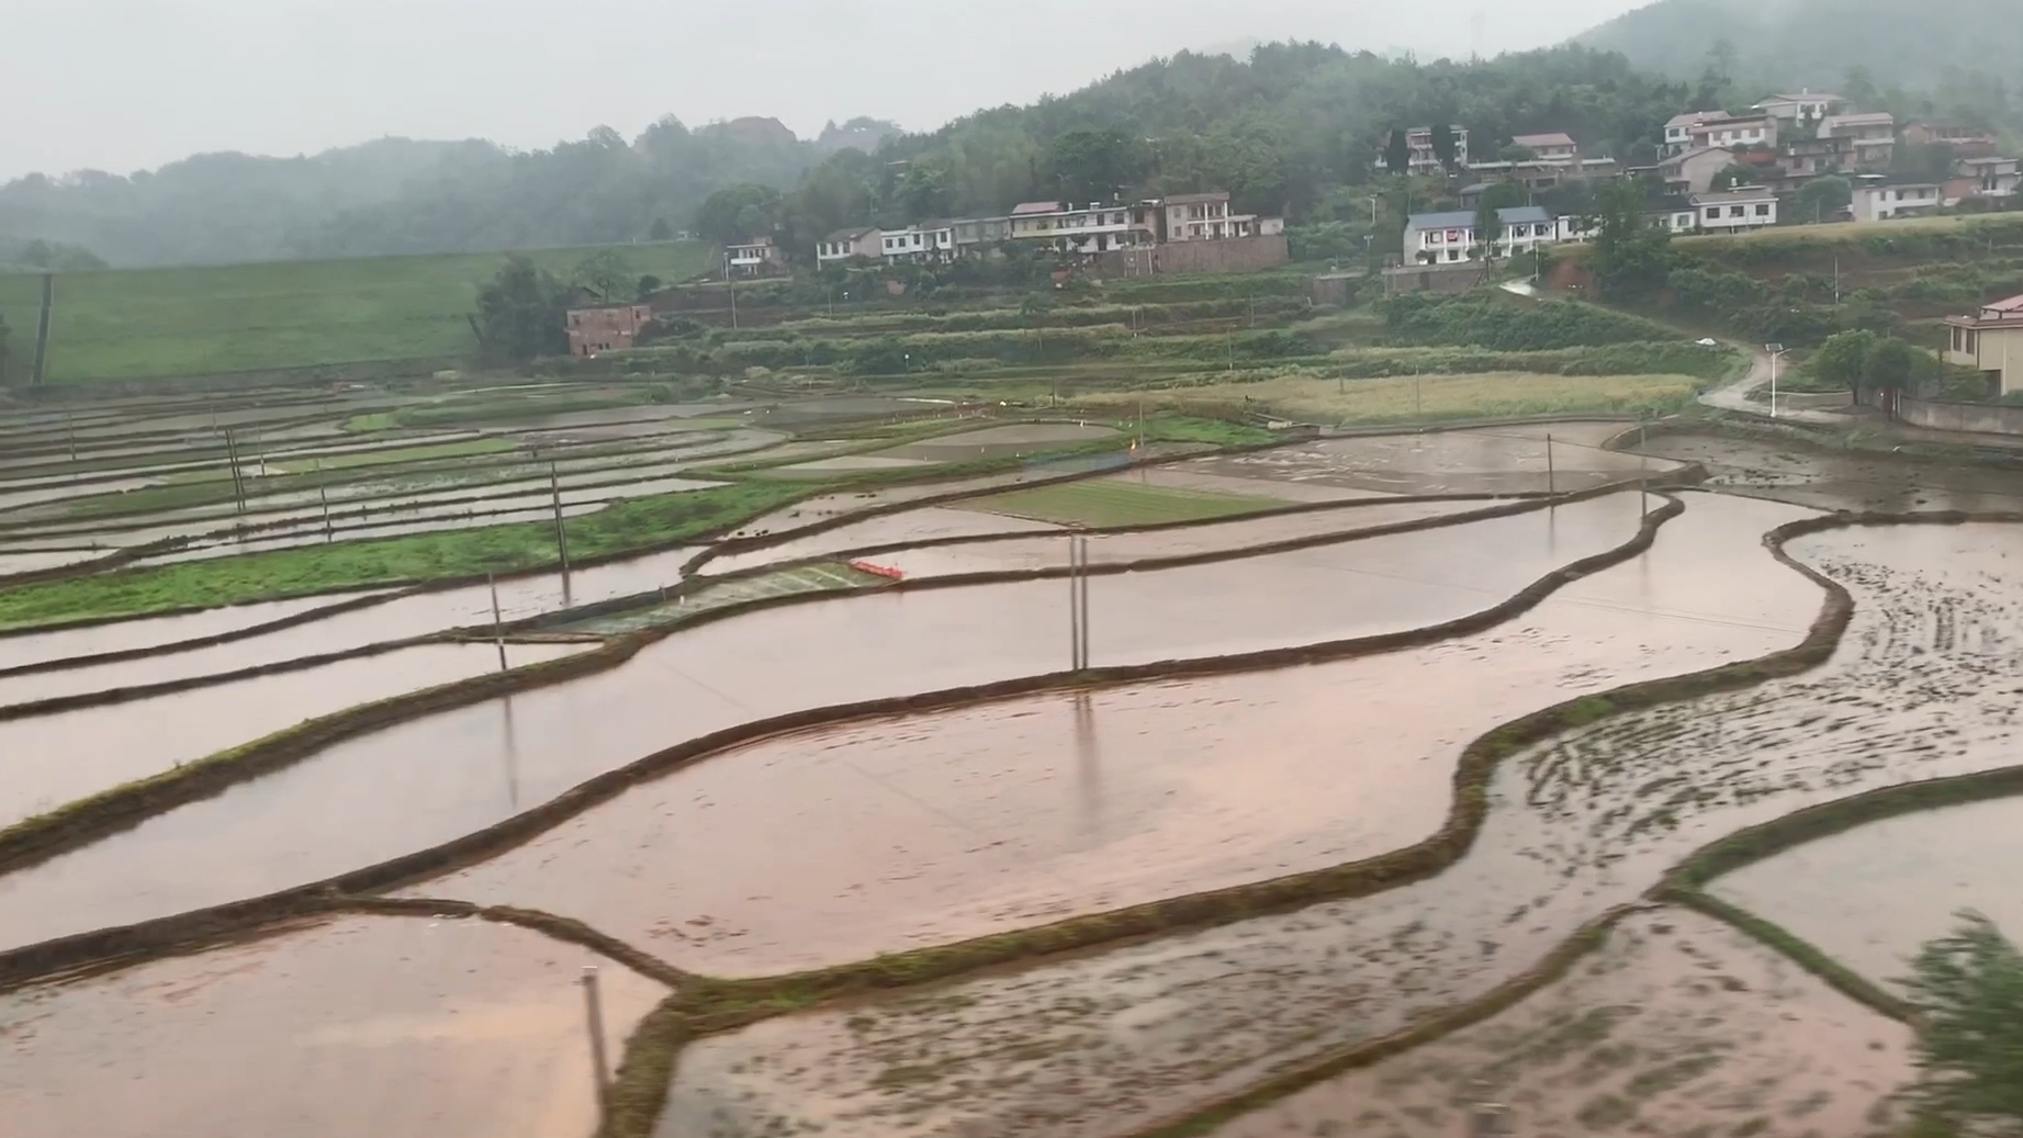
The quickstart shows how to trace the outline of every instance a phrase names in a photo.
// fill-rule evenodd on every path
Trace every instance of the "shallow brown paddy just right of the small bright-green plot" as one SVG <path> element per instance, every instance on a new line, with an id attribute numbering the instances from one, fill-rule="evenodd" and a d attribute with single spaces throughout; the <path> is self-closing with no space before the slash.
<path id="1" fill-rule="evenodd" d="M 1434 431 L 1424 435 L 1359 435 L 1315 439 L 1250 455 L 1216 455 L 1165 467 L 1196 477 L 1198 489 L 1244 493 L 1240 483 L 1264 483 L 1248 493 L 1272 493 L 1270 483 L 1359 493 L 1513 493 L 1586 489 L 1635 479 L 1649 465 L 1641 455 L 1600 449 L 1620 422 L 1564 422 Z M 1552 435 L 1548 447 L 1546 437 Z M 1548 457 L 1550 451 L 1550 457 Z M 1200 479 L 1214 479 L 1200 481 Z"/>

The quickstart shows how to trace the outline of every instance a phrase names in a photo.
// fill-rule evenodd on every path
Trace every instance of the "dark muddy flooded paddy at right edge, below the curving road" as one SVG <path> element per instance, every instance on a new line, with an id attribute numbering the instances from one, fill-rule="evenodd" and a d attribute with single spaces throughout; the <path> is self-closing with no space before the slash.
<path id="1" fill-rule="evenodd" d="M 1709 485 L 1821 509 L 2023 511 L 2023 471 L 1695 433 L 1661 435 L 1647 451 L 1705 465 Z"/>

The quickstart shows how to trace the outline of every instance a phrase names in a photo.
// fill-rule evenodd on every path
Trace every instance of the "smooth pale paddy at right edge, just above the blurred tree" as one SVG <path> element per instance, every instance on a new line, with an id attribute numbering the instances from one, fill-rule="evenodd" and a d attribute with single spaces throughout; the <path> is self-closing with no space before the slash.
<path id="1" fill-rule="evenodd" d="M 1711 891 L 1869 980 L 1894 986 L 1910 958 L 1972 910 L 2023 936 L 2023 798 L 1924 811 L 1855 827 L 1738 869 Z"/>

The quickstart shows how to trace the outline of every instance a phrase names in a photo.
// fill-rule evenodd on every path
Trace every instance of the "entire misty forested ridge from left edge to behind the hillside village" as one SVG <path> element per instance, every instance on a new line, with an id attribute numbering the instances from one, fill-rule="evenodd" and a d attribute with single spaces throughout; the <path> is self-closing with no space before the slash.
<path id="1" fill-rule="evenodd" d="M 113 265 L 599 245 L 692 226 L 811 249 L 868 220 L 1210 188 L 1305 220 L 1353 212 L 1368 190 L 1349 186 L 1368 182 L 1394 125 L 1461 123 L 1477 158 L 1511 133 L 1568 131 L 1590 154 L 1649 160 L 1693 97 L 1582 46 L 1420 65 L 1264 44 L 1244 61 L 1181 53 L 918 135 L 852 119 L 803 141 L 773 119 L 688 129 L 670 117 L 631 141 L 599 127 L 528 154 L 384 139 L 134 178 L 26 178 L 0 186 L 0 243 L 81 247 Z"/>

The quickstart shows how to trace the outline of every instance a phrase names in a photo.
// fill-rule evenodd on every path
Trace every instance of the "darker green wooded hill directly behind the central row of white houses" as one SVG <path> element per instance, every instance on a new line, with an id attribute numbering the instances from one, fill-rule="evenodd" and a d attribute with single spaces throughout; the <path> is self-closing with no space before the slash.
<path id="1" fill-rule="evenodd" d="M 1560 129 L 1590 154 L 1649 158 L 1691 99 L 1685 83 L 1578 46 L 1426 65 L 1323 44 L 1264 44 L 1248 61 L 1181 53 L 890 139 L 876 156 L 840 152 L 795 194 L 759 204 L 787 245 L 864 220 L 1188 190 L 1230 190 L 1242 210 L 1307 220 L 1351 212 L 1368 190 L 1347 188 L 1370 180 L 1394 125 L 1461 123 L 1479 158 L 1511 133 Z M 732 232 L 755 214 L 720 216 Z"/>

